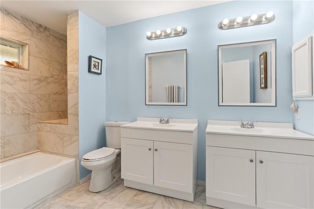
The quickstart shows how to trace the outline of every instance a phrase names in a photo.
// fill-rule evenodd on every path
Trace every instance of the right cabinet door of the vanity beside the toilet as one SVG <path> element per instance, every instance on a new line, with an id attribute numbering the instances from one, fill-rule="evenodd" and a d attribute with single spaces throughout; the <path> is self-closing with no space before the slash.
<path id="1" fill-rule="evenodd" d="M 154 142 L 154 185 L 192 192 L 192 145 Z"/>

